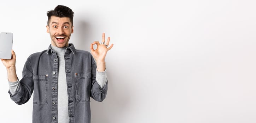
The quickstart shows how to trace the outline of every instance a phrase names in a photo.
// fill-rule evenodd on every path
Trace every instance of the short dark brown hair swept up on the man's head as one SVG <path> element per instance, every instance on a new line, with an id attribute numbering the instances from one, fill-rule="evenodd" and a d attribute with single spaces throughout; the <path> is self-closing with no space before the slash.
<path id="1" fill-rule="evenodd" d="M 52 16 L 56 16 L 56 17 L 60 17 L 60 18 L 69 17 L 70 22 L 73 26 L 74 12 L 69 7 L 58 5 L 54 8 L 54 10 L 48 11 L 47 16 L 48 16 L 48 21 L 47 21 L 48 26 L 49 26 Z"/>

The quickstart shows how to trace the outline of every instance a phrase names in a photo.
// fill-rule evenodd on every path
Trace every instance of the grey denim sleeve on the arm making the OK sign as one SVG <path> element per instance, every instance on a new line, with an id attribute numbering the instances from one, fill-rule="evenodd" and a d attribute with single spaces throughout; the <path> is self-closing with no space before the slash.
<path id="1" fill-rule="evenodd" d="M 92 87 L 91 87 L 91 97 L 98 102 L 102 102 L 107 95 L 107 83 L 105 86 L 103 86 L 103 88 L 100 87 L 100 85 L 98 84 L 98 82 L 96 81 L 96 63 L 93 60 L 92 61 Z"/>

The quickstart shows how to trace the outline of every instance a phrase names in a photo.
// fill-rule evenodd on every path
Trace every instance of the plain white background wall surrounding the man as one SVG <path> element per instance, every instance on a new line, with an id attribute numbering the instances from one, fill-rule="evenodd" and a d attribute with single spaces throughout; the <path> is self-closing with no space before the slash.
<path id="1" fill-rule="evenodd" d="M 1 0 L 0 32 L 12 32 L 17 76 L 46 50 L 46 12 L 74 12 L 70 43 L 111 37 L 106 99 L 92 123 L 256 123 L 255 0 Z M 30 123 L 32 101 L 14 103 L 0 64 L 2 123 Z"/>

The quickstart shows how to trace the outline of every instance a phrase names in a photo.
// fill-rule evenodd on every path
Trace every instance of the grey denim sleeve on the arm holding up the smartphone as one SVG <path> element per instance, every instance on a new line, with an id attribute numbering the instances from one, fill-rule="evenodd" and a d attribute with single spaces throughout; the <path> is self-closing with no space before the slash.
<path id="1" fill-rule="evenodd" d="M 22 76 L 23 78 L 20 80 L 20 86 L 16 93 L 12 95 L 10 90 L 8 91 L 10 98 L 18 105 L 28 102 L 34 90 L 33 71 L 28 59 L 24 65 Z"/>

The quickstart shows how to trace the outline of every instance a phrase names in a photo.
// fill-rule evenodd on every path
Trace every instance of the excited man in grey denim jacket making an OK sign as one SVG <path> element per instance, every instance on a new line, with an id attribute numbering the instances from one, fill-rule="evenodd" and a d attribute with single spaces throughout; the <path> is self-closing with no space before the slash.
<path id="1" fill-rule="evenodd" d="M 91 44 L 92 55 L 76 50 L 68 43 L 73 33 L 74 12 L 58 5 L 47 16 L 51 45 L 48 50 L 28 57 L 21 80 L 16 75 L 14 51 L 11 59 L 1 59 L 7 69 L 10 97 L 21 105 L 34 90 L 33 123 L 90 123 L 90 97 L 99 102 L 106 97 L 105 57 L 113 44 L 108 47 L 110 38 L 105 43 L 103 33 L 101 44 Z"/>

